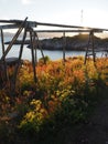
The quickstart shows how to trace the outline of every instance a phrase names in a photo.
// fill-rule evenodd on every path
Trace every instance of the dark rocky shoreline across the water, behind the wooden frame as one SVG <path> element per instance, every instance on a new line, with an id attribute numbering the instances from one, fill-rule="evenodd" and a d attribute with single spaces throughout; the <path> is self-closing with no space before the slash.
<path id="1" fill-rule="evenodd" d="M 65 43 L 64 38 L 50 38 L 50 39 L 43 39 L 40 40 L 40 47 L 43 50 L 48 51 L 86 51 L 86 48 L 88 47 L 88 34 L 78 34 L 74 37 L 66 37 Z M 10 41 L 6 42 L 4 44 L 9 44 Z M 108 49 L 108 39 L 100 39 L 94 35 L 94 43 L 95 49 L 97 50 L 105 50 Z M 14 44 L 22 44 L 22 40 L 17 40 Z M 25 40 L 24 44 L 26 44 L 28 48 L 30 48 L 30 40 Z M 36 49 L 40 50 L 40 47 L 36 45 Z"/>

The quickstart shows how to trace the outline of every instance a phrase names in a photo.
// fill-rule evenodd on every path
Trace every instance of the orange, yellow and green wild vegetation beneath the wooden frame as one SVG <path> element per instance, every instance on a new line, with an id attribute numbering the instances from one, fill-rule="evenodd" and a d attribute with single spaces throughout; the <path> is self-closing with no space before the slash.
<path id="1" fill-rule="evenodd" d="M 19 70 L 14 96 L 9 83 L 0 90 L 1 144 L 67 144 L 107 97 L 107 58 L 95 64 L 89 59 L 86 65 L 82 56 L 68 58 L 65 65 L 47 60 L 44 64 L 41 59 L 35 68 L 36 83 L 29 63 Z"/>

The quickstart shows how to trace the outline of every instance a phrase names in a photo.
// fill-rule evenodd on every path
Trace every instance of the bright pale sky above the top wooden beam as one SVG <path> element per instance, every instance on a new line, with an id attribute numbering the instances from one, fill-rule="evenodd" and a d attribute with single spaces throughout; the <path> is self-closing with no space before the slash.
<path id="1" fill-rule="evenodd" d="M 0 0 L 0 19 L 108 29 L 108 0 Z"/>

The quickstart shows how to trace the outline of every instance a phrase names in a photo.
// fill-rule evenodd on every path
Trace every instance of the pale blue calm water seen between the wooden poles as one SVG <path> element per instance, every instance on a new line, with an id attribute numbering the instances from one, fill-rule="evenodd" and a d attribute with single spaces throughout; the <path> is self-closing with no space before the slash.
<path id="1" fill-rule="evenodd" d="M 10 40 L 10 38 L 7 38 L 7 41 Z M 1 40 L 0 40 L 1 41 Z M 8 45 L 4 45 L 6 49 Z M 8 53 L 7 58 L 11 56 L 19 56 L 19 51 L 20 51 L 20 45 L 13 45 Z M 51 60 L 57 60 L 57 59 L 63 59 L 63 51 L 48 51 L 48 50 L 43 50 L 44 55 L 50 56 Z M 66 51 L 65 56 L 77 56 L 77 55 L 85 55 L 85 51 Z M 101 56 L 101 52 L 97 52 L 96 55 L 98 58 Z M 0 42 L 0 58 L 2 56 L 2 49 L 1 49 L 1 42 Z M 37 59 L 42 58 L 41 51 L 37 50 Z M 22 59 L 23 60 L 32 60 L 31 58 L 31 50 L 24 45 L 23 48 L 23 53 L 22 53 Z"/>

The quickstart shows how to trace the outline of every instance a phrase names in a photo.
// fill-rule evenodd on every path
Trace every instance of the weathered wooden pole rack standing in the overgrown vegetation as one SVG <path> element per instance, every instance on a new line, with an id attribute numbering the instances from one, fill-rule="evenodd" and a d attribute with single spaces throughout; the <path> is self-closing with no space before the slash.
<path id="1" fill-rule="evenodd" d="M 62 30 L 35 30 L 34 28 L 36 28 L 37 25 L 44 25 L 44 27 L 57 27 L 57 28 L 63 28 Z M 7 47 L 7 49 L 4 49 L 4 41 L 3 41 L 3 30 L 9 30 L 9 29 L 17 29 L 17 33 L 14 33 L 14 37 L 12 38 L 12 40 L 10 41 L 9 45 Z M 84 28 L 84 27 L 78 27 L 78 25 L 66 25 L 66 24 L 56 24 L 56 23 L 44 23 L 44 22 L 36 22 L 36 21 L 28 21 L 28 18 L 25 18 L 24 20 L 0 20 L 0 30 L 1 30 L 1 45 L 2 45 L 2 56 L 0 58 L 0 69 L 2 68 L 4 70 L 4 79 L 6 81 L 8 80 L 7 76 L 7 54 L 9 53 L 9 51 L 11 50 L 12 45 L 17 42 L 19 35 L 21 34 L 22 31 L 23 32 L 23 38 L 22 38 L 22 42 L 20 45 L 20 52 L 19 52 L 19 58 L 15 59 L 17 61 L 17 68 L 14 71 L 14 75 L 12 79 L 12 84 L 15 85 L 15 81 L 17 81 L 17 74 L 18 74 L 18 70 L 21 63 L 21 58 L 22 58 L 22 52 L 23 52 L 23 45 L 25 42 L 25 38 L 26 38 L 26 33 L 29 33 L 30 35 L 30 48 L 31 48 L 31 54 L 32 54 L 32 65 L 33 65 L 33 74 L 34 74 L 34 81 L 36 82 L 37 78 L 36 78 L 36 71 L 35 71 L 35 64 L 36 64 L 36 47 L 39 44 L 39 38 L 37 38 L 37 33 L 39 32 L 61 32 L 63 33 L 64 37 L 64 47 L 63 47 L 63 59 L 65 61 L 65 45 L 66 45 L 66 39 L 65 39 L 65 33 L 67 32 L 87 32 L 89 33 L 89 40 L 88 40 L 88 47 L 89 44 L 91 45 L 91 55 L 93 59 L 95 61 L 95 50 L 94 50 L 94 33 L 95 32 L 102 32 L 102 31 L 108 31 L 108 29 L 97 29 L 97 28 Z M 87 60 L 88 51 L 89 48 L 87 47 L 86 50 L 86 55 L 85 55 L 85 63 Z M 39 44 L 39 48 L 41 50 L 42 56 L 44 58 L 42 48 Z"/>

